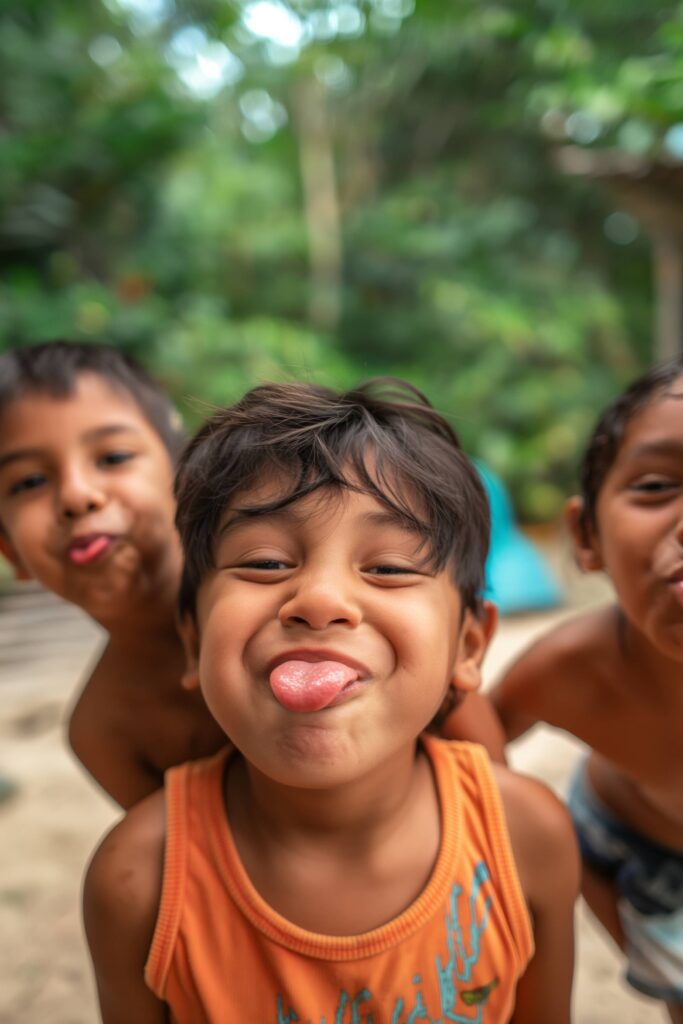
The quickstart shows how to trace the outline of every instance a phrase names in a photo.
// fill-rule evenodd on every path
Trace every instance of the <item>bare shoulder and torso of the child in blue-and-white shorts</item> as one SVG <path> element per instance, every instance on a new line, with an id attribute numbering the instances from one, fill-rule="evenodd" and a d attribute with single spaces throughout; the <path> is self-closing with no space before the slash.
<path id="1" fill-rule="evenodd" d="M 634 638 L 635 640 L 635 638 Z M 495 688 L 508 739 L 536 722 L 591 748 L 596 794 L 622 820 L 683 849 L 683 686 L 679 666 L 659 672 L 636 643 L 624 645 L 615 606 L 564 623 L 526 651 Z"/>

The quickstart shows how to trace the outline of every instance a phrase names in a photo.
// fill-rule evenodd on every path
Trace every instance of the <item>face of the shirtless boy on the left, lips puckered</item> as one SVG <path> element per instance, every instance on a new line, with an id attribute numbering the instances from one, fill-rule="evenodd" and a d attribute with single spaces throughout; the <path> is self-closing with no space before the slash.
<path id="1" fill-rule="evenodd" d="M 0 417 L 1 550 L 105 623 L 179 563 L 170 457 L 138 407 L 95 374 Z"/>

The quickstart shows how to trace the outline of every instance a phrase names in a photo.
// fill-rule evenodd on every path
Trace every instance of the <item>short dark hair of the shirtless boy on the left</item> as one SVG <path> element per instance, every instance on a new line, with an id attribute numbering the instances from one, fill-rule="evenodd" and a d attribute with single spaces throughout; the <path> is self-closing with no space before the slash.
<path id="1" fill-rule="evenodd" d="M 35 393 L 69 397 L 81 374 L 96 374 L 126 391 L 159 434 L 175 462 L 186 435 L 179 414 L 137 362 L 110 345 L 48 341 L 0 354 L 0 414 L 17 398 Z"/>

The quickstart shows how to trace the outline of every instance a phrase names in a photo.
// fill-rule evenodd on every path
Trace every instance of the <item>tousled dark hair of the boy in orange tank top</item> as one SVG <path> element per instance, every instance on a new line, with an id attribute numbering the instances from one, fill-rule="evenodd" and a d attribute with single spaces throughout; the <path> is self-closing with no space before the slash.
<path id="1" fill-rule="evenodd" d="M 476 608 L 488 548 L 488 503 L 445 420 L 403 381 L 380 378 L 345 393 L 263 384 L 216 413 L 180 460 L 176 525 L 185 553 L 181 611 L 214 566 L 226 507 L 258 481 L 285 475 L 286 493 L 242 512 L 282 509 L 319 487 L 372 495 L 423 538 L 426 561 L 452 564 L 465 607 Z"/>

